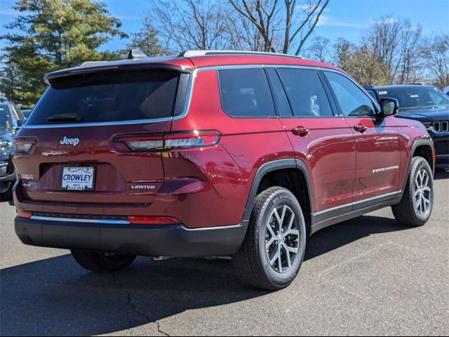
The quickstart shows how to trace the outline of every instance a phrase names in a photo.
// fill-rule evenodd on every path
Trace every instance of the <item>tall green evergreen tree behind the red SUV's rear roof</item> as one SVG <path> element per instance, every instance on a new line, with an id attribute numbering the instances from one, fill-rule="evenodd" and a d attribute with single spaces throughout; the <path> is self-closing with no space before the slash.
<path id="1" fill-rule="evenodd" d="M 97 49 L 112 37 L 126 37 L 106 5 L 92 0 L 19 0 L 21 14 L 6 25 L 0 91 L 9 100 L 34 105 L 46 85 L 46 72 L 104 60 Z"/>

